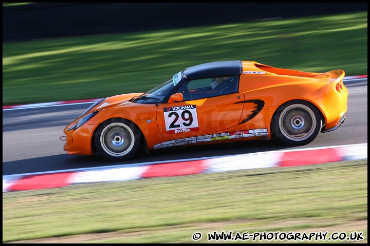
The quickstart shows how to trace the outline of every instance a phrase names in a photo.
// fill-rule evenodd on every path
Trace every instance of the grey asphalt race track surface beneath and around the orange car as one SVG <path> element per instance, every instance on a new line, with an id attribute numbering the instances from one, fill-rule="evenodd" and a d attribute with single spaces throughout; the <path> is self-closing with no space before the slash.
<path id="1" fill-rule="evenodd" d="M 197 147 L 173 147 L 139 153 L 133 159 L 110 162 L 98 154 L 71 156 L 63 151 L 63 129 L 92 103 L 64 104 L 18 109 L 3 108 L 3 175 L 52 172 L 108 167 L 153 161 L 178 161 L 193 158 L 295 150 L 330 146 L 367 144 L 367 76 L 345 80 L 349 89 L 348 111 L 344 124 L 335 131 L 319 134 L 303 147 L 283 146 L 274 141 L 246 141 Z"/>

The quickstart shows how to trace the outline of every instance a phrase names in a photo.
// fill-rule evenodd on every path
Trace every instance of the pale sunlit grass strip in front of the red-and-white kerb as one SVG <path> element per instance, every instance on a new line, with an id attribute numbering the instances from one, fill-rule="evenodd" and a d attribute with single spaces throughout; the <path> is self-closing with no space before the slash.
<path id="1" fill-rule="evenodd" d="M 3 193 L 3 242 L 207 242 L 214 231 L 367 242 L 367 159 Z"/>

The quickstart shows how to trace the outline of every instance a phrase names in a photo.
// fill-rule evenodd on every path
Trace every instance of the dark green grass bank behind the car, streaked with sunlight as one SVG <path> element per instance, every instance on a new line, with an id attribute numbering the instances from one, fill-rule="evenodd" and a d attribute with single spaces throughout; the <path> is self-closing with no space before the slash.
<path id="1" fill-rule="evenodd" d="M 3 43 L 3 106 L 145 92 L 186 67 L 234 59 L 367 74 L 367 11 Z"/>

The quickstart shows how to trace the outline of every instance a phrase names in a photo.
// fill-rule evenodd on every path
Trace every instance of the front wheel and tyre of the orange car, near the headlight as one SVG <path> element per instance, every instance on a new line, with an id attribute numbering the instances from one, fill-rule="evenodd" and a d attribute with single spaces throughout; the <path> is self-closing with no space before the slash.
<path id="1" fill-rule="evenodd" d="M 103 122 L 95 134 L 98 152 L 111 161 L 123 161 L 133 157 L 140 147 L 140 131 L 126 119 L 110 119 Z"/>

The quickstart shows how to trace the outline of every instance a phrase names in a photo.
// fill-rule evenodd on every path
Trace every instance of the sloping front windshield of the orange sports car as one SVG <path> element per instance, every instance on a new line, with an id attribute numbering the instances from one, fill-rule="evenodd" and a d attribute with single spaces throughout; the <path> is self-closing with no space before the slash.
<path id="1" fill-rule="evenodd" d="M 134 103 L 160 103 L 174 89 L 181 78 L 181 72 L 176 73 L 174 76 L 164 80 L 153 89 L 135 98 Z"/>

